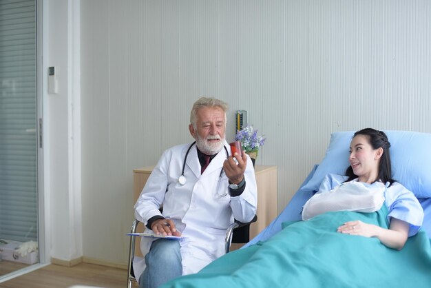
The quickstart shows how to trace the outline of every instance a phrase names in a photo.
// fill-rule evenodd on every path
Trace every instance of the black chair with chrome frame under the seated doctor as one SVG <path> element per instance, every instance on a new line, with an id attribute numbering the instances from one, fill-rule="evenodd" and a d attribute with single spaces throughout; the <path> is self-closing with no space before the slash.
<path id="1" fill-rule="evenodd" d="M 244 238 L 244 237 L 235 237 L 235 235 L 233 234 L 233 232 L 239 231 L 238 229 L 244 229 L 244 232 L 246 232 L 247 234 L 249 233 L 249 225 L 251 223 L 255 223 L 257 221 L 257 216 L 255 215 L 253 217 L 253 219 L 249 222 L 249 223 L 242 223 L 240 221 L 235 220 L 234 223 L 232 223 L 231 225 L 229 225 L 229 227 L 226 230 L 226 237 L 224 238 L 224 253 L 227 254 L 229 253 L 229 250 L 231 248 L 231 243 L 246 243 L 248 242 L 248 238 Z M 138 225 L 139 225 L 139 221 L 138 220 L 134 220 L 132 223 L 132 227 L 130 228 L 130 233 L 136 233 L 137 229 L 138 229 Z M 129 236 L 130 240 L 129 240 L 129 263 L 127 264 L 127 288 L 132 288 L 132 285 L 134 282 L 138 282 L 138 280 L 136 279 L 136 276 L 134 274 L 134 270 L 133 270 L 133 260 L 135 257 L 135 238 L 136 236 Z M 246 239 L 246 240 L 244 240 Z M 240 241 L 238 241 L 240 240 Z M 244 242 L 242 242 L 244 241 Z"/>

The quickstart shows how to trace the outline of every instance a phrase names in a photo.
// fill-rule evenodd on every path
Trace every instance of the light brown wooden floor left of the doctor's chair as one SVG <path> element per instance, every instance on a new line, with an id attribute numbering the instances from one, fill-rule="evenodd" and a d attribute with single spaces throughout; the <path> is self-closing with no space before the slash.
<path id="1" fill-rule="evenodd" d="M 74 267 L 48 265 L 0 283 L 2 288 L 67 288 L 73 285 L 124 288 L 127 287 L 127 270 L 88 263 Z"/>

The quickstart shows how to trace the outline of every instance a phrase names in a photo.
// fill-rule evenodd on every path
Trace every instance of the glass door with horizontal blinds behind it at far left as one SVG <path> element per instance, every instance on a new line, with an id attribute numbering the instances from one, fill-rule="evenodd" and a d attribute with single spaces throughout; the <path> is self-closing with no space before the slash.
<path id="1" fill-rule="evenodd" d="M 1 0 L 0 280 L 39 262 L 36 99 L 36 0 Z"/>

